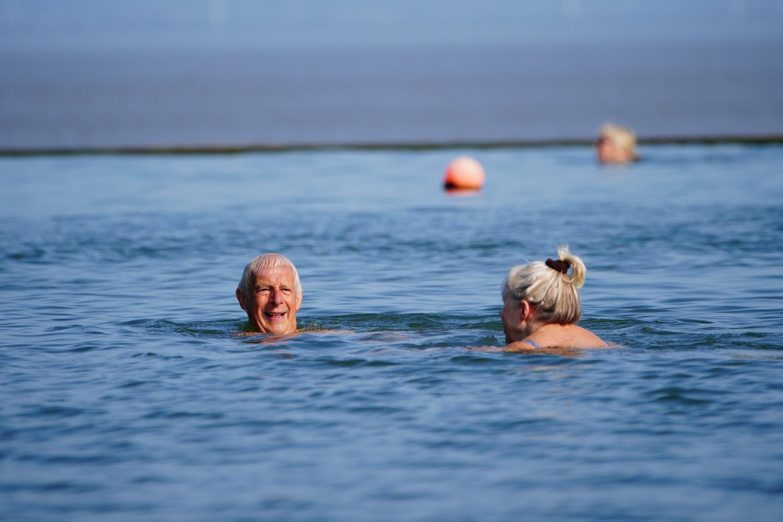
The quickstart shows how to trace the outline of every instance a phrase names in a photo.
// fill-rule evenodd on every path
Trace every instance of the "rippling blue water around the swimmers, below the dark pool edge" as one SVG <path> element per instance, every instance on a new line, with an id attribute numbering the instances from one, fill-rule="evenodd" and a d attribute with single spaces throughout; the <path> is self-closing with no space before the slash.
<path id="1" fill-rule="evenodd" d="M 641 154 L 0 158 L 0 520 L 778 520 L 783 146 Z M 625 347 L 473 349 L 565 242 Z M 297 337 L 235 335 L 265 251 Z"/>

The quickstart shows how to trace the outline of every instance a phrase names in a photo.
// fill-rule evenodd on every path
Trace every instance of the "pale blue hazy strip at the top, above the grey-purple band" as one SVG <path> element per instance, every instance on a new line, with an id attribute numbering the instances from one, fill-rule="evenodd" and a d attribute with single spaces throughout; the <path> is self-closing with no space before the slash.
<path id="1" fill-rule="evenodd" d="M 783 38 L 774 0 L 4 0 L 0 49 Z"/>

